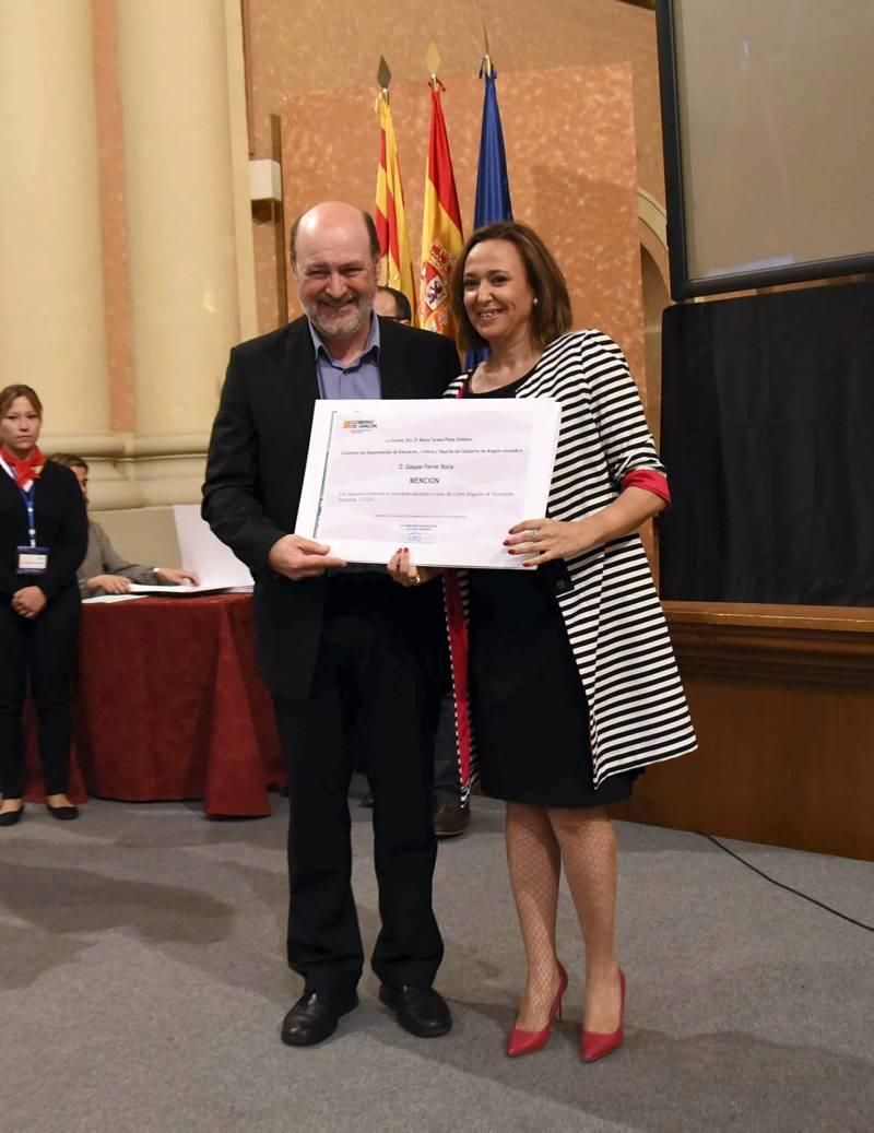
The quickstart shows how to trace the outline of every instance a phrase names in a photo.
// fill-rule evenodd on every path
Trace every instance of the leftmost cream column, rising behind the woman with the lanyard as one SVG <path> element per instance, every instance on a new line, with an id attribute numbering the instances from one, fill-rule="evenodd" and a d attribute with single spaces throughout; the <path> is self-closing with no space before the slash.
<path id="1" fill-rule="evenodd" d="M 139 502 L 113 463 L 91 0 L 0 0 L 0 385 L 40 394 L 42 445 L 95 461 L 100 505 Z"/>

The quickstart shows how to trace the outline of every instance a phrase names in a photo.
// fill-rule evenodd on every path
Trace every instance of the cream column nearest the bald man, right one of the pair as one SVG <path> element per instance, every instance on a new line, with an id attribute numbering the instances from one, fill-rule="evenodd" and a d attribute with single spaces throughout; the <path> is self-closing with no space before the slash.
<path id="1" fill-rule="evenodd" d="M 119 0 L 118 62 L 131 454 L 147 503 L 195 501 L 228 350 L 241 337 L 226 6 Z"/>

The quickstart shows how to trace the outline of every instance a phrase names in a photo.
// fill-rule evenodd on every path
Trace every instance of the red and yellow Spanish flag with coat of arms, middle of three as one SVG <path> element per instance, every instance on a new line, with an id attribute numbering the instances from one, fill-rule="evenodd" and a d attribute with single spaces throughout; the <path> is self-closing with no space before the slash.
<path id="1" fill-rule="evenodd" d="M 449 278 L 464 247 L 452 156 L 440 101 L 442 83 L 431 82 L 431 133 L 425 170 L 425 208 L 422 218 L 419 326 L 439 334 L 455 331 L 449 310 Z"/>

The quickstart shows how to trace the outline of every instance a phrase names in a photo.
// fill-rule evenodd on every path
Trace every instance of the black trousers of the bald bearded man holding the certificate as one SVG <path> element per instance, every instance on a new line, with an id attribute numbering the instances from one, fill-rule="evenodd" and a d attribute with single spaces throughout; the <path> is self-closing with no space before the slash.
<path id="1" fill-rule="evenodd" d="M 439 594 L 372 572 L 331 577 L 325 589 L 309 695 L 275 698 L 289 775 L 288 962 L 308 991 L 342 994 L 362 974 L 350 879 L 353 752 L 343 743 L 355 730 L 374 799 L 381 928 L 373 970 L 391 987 L 430 987 L 443 955 L 431 903 L 440 690 L 427 656 L 442 632 Z"/>

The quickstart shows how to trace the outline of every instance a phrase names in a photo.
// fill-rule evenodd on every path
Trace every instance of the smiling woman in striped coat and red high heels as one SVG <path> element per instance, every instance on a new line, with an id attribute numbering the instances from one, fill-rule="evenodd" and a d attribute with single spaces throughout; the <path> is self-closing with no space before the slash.
<path id="1" fill-rule="evenodd" d="M 668 630 L 637 535 L 668 502 L 634 381 L 599 331 L 569 332 L 561 271 L 525 224 L 476 231 L 452 307 L 464 348 L 489 357 L 448 397 L 553 398 L 561 427 L 548 516 L 507 535 L 524 570 L 447 574 L 459 736 L 469 725 L 483 789 L 507 800 L 507 857 L 527 980 L 507 1053 L 545 1046 L 568 977 L 555 943 L 563 864 L 586 953 L 580 1055 L 622 1041 L 617 845 L 604 806 L 651 763 L 695 748 Z M 433 573 L 399 552 L 397 581 Z M 466 672 L 459 658 L 467 656 Z"/>

